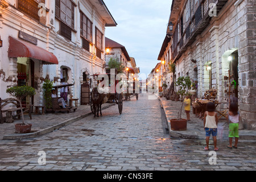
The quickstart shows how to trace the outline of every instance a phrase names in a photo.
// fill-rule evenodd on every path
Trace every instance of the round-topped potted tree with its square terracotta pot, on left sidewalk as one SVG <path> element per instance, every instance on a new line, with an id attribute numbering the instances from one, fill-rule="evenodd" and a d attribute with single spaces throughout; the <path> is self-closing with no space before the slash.
<path id="1" fill-rule="evenodd" d="M 22 108 L 22 100 L 23 98 L 35 95 L 35 89 L 31 86 L 13 86 L 6 90 L 7 93 L 11 94 L 11 96 L 15 97 L 16 100 L 19 102 L 20 108 Z M 24 123 L 24 115 L 23 110 L 20 109 L 22 115 L 22 123 L 17 123 L 15 125 L 15 132 L 16 133 L 30 133 L 31 131 L 31 124 Z"/>

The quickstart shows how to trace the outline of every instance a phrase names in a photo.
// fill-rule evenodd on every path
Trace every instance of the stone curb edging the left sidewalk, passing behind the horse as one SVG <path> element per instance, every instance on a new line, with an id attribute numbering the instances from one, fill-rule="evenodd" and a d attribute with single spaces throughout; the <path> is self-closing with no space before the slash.
<path id="1" fill-rule="evenodd" d="M 113 103 L 113 104 L 111 104 L 109 106 L 102 107 L 101 110 L 107 109 L 108 107 L 111 107 L 113 105 L 115 105 L 115 104 Z M 79 115 L 78 117 L 75 117 L 75 118 L 70 118 L 67 121 L 61 122 L 61 123 L 59 123 L 57 125 L 53 125 L 53 126 L 47 127 L 46 129 L 42 129 L 42 130 L 36 131 L 34 133 L 5 135 L 5 136 L 3 136 L 3 140 L 26 139 L 26 138 L 39 137 L 41 135 L 44 135 L 44 134 L 47 134 L 47 133 L 51 133 L 52 131 L 59 130 L 61 127 L 68 126 L 69 124 L 71 124 L 73 122 L 76 122 L 79 119 L 82 119 L 84 117 L 87 117 L 90 114 L 92 114 L 92 112 L 86 113 L 86 114 L 83 114 L 83 115 Z"/>

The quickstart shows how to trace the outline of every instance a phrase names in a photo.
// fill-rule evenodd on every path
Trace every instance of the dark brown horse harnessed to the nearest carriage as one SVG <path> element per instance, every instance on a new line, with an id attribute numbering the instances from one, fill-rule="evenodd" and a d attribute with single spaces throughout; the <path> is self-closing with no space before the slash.
<path id="1" fill-rule="evenodd" d="M 92 90 L 92 103 L 93 103 L 93 110 L 94 110 L 94 117 L 96 117 L 96 111 L 97 111 L 97 117 L 99 117 L 98 115 L 98 111 L 100 110 L 100 114 L 102 116 L 101 113 L 101 105 L 104 104 L 105 98 L 106 96 L 104 96 L 103 94 L 98 93 L 98 89 L 97 88 L 93 88 Z"/>

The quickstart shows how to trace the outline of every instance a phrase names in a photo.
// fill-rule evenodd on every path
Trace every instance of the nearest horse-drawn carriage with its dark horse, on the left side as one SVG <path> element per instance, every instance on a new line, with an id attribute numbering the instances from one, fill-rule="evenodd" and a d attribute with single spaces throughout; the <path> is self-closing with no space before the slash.
<path id="1" fill-rule="evenodd" d="M 98 77 L 101 78 L 98 78 Z M 115 80 L 117 72 L 114 73 L 101 73 L 93 75 L 94 88 L 90 92 L 90 109 L 94 114 L 94 117 L 98 117 L 98 112 L 101 113 L 101 105 L 104 103 L 116 103 L 118 105 L 119 114 L 122 114 L 123 110 L 123 94 L 117 92 L 117 85 L 119 80 Z M 106 80 L 108 81 L 106 81 Z M 113 80 L 112 80 L 113 79 Z M 104 82 L 104 84 L 102 84 Z M 119 90 L 118 90 L 119 91 Z"/>

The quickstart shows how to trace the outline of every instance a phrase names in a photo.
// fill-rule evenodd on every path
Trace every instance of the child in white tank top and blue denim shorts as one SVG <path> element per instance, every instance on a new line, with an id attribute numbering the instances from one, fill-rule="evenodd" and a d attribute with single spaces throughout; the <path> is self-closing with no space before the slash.
<path id="1" fill-rule="evenodd" d="M 205 136 L 206 136 L 206 143 L 207 146 L 204 150 L 209 150 L 209 139 L 210 134 L 212 134 L 213 143 L 214 143 L 214 151 L 218 150 L 217 147 L 217 125 L 218 125 L 218 117 L 215 112 L 215 105 L 213 102 L 209 102 L 206 106 L 206 110 L 204 113 L 204 129 L 205 129 Z"/>

